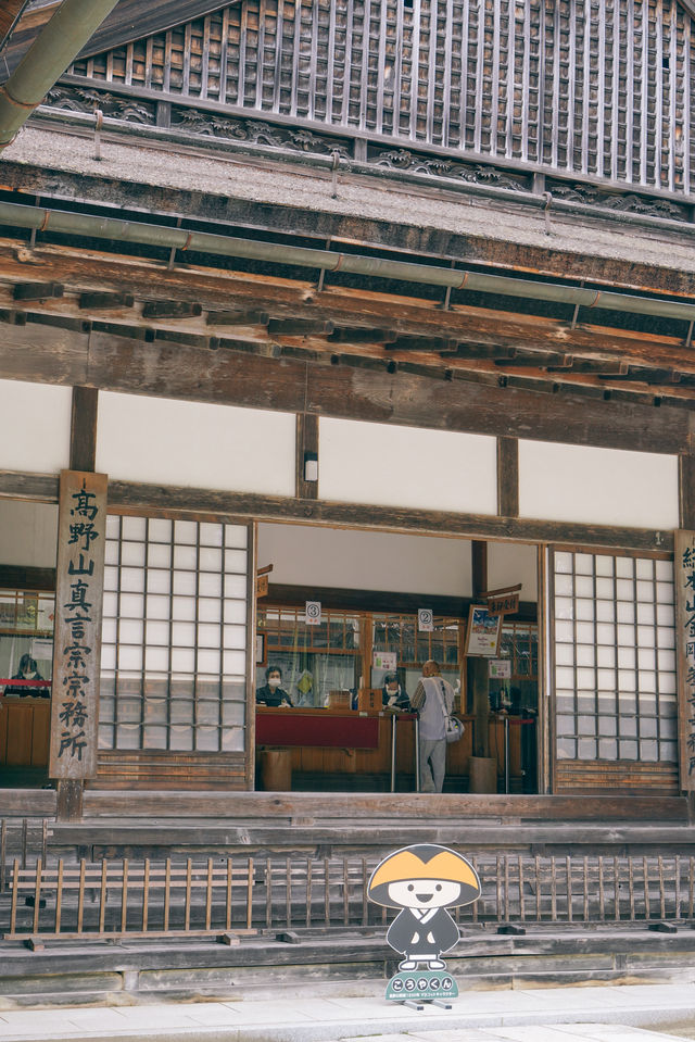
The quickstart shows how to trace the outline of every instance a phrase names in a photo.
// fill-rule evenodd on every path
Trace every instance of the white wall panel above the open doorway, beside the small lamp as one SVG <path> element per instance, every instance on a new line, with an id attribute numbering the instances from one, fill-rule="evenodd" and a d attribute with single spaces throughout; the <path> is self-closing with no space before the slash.
<path id="1" fill-rule="evenodd" d="M 321 499 L 462 513 L 497 510 L 496 442 L 483 435 L 319 420 Z"/>

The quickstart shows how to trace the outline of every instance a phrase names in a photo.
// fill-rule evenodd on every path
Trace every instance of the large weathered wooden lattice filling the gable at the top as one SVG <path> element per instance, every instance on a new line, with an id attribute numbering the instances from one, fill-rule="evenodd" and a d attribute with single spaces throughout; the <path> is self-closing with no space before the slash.
<path id="1" fill-rule="evenodd" d="M 245 0 L 70 72 L 452 154 L 692 185 L 695 50 L 677 0 Z"/>

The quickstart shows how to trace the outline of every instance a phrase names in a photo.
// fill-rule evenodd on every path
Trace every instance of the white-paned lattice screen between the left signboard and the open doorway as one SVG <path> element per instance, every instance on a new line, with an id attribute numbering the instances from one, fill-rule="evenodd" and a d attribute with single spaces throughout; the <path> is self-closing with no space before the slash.
<path id="1" fill-rule="evenodd" d="M 244 748 L 247 528 L 110 516 L 100 746 Z"/>

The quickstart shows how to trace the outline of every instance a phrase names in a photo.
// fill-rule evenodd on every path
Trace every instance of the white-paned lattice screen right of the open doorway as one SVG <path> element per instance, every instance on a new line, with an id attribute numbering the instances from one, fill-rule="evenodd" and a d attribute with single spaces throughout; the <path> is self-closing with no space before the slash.
<path id="1" fill-rule="evenodd" d="M 672 563 L 554 560 L 558 758 L 677 762 Z"/>

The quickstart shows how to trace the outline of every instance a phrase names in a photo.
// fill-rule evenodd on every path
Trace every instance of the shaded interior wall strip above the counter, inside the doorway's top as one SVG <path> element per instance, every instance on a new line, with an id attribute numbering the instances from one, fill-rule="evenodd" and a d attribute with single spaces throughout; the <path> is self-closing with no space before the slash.
<path id="1" fill-rule="evenodd" d="M 270 582 L 394 593 L 470 595 L 470 542 L 391 532 L 258 525 Z"/>

